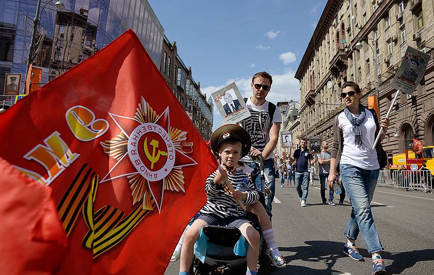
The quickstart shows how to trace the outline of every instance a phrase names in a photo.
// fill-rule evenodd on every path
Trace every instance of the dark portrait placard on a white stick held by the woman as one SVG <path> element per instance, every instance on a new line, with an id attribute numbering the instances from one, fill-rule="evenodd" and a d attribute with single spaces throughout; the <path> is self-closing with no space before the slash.
<path id="1" fill-rule="evenodd" d="M 425 74 L 428 61 L 429 55 L 408 46 L 401 66 L 390 86 L 403 93 L 413 94 Z"/>

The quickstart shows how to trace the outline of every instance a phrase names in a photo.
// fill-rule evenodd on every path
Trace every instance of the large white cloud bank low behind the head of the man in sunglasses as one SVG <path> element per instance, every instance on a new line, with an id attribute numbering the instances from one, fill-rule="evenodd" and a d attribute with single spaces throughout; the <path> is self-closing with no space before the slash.
<path id="1" fill-rule="evenodd" d="M 299 100 L 300 99 L 300 82 L 294 78 L 295 72 L 287 71 L 283 74 L 274 74 L 273 83 L 271 85 L 271 90 L 267 95 L 267 100 L 272 103 L 277 103 L 280 101 L 289 100 Z M 208 86 L 201 88 L 203 94 L 211 95 L 215 91 L 223 88 L 229 83 L 235 82 L 236 86 L 240 90 L 243 98 L 248 98 L 252 96 L 252 77 L 243 77 L 236 79 L 228 79 L 225 84 L 221 86 Z M 217 106 L 214 103 L 214 121 L 213 130 L 217 129 L 223 122 L 223 119 L 218 112 Z"/>

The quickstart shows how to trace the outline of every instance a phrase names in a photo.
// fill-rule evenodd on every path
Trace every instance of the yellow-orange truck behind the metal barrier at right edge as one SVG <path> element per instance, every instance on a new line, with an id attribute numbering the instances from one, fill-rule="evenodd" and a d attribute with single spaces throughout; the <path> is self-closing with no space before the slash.
<path id="1" fill-rule="evenodd" d="M 434 146 L 423 146 L 421 154 L 415 153 L 414 149 L 406 149 L 405 153 L 394 154 L 389 169 L 417 171 L 422 168 L 422 164 L 425 164 L 434 175 Z"/>

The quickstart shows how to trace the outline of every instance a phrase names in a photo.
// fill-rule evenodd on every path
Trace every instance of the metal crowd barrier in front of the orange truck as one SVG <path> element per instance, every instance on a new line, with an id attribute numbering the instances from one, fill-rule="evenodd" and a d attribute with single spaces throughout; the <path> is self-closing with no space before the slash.
<path id="1" fill-rule="evenodd" d="M 434 191 L 434 176 L 429 170 L 381 170 L 377 186 L 408 191 Z"/>

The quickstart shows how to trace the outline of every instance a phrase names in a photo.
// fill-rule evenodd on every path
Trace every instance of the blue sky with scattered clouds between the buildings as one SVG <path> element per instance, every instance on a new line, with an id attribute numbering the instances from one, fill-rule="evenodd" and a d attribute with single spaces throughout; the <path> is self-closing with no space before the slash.
<path id="1" fill-rule="evenodd" d="M 250 97 L 252 76 L 266 71 L 273 77 L 267 100 L 299 100 L 294 74 L 327 1 L 148 2 L 207 99 L 231 82 Z M 213 130 L 223 121 L 215 106 Z"/>

